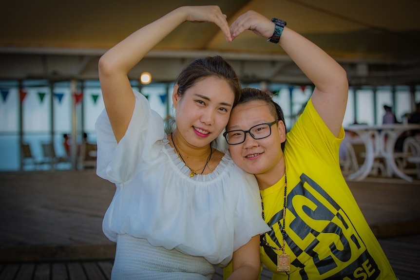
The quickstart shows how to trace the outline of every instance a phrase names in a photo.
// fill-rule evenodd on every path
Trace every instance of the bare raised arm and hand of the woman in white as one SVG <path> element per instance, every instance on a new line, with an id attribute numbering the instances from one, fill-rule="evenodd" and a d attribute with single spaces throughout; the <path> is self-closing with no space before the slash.
<path id="1" fill-rule="evenodd" d="M 213 22 L 231 41 L 226 15 L 218 6 L 185 6 L 137 30 L 99 59 L 99 80 L 105 109 L 117 142 L 127 131 L 134 110 L 134 95 L 128 72 L 184 21 Z"/>

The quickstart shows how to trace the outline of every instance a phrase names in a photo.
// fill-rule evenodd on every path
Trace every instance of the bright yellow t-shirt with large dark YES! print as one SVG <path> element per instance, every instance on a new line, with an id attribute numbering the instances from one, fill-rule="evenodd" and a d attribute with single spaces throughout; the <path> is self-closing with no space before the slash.
<path id="1" fill-rule="evenodd" d="M 260 246 L 273 280 L 397 279 L 342 175 L 338 150 L 343 138 L 343 128 L 335 137 L 311 100 L 287 133 L 285 250 L 291 265 L 290 272 L 277 272 L 282 251 Z M 272 228 L 266 239 L 276 248 L 283 245 L 284 187 L 285 176 L 260 191 Z"/>

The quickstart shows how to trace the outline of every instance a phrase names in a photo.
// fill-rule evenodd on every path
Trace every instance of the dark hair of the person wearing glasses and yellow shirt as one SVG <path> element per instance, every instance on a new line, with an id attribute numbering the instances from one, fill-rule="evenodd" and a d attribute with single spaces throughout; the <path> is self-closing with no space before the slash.
<path id="1" fill-rule="evenodd" d="M 279 120 L 283 121 L 285 124 L 285 130 L 286 130 L 286 122 L 285 122 L 285 115 L 283 114 L 283 110 L 280 107 L 279 104 L 273 101 L 272 99 L 273 94 L 263 92 L 259 89 L 253 89 L 253 88 L 243 88 L 241 98 L 239 99 L 239 104 L 245 104 L 251 101 L 263 101 L 266 102 L 268 110 L 270 111 L 271 115 Z M 281 144 L 282 150 L 285 150 L 286 141 Z"/>

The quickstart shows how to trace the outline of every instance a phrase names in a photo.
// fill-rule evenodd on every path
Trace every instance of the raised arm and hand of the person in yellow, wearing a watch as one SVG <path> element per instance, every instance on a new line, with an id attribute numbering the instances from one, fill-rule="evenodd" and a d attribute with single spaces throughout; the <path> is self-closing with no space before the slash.
<path id="1" fill-rule="evenodd" d="M 248 11 L 232 23 L 230 32 L 233 39 L 245 30 L 269 38 L 274 33 L 274 27 L 270 19 Z M 347 75 L 343 67 L 317 45 L 290 28 L 284 28 L 279 44 L 314 83 L 312 103 L 329 130 L 337 136 L 343 123 L 348 95 Z"/>

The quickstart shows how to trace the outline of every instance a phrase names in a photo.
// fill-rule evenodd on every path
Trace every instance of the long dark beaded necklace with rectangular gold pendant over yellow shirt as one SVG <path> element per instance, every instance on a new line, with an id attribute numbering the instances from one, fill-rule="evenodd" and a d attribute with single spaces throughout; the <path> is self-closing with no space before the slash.
<path id="1" fill-rule="evenodd" d="M 281 250 L 283 253 L 281 255 L 277 255 L 277 271 L 290 271 L 290 256 L 287 255 L 285 253 L 285 244 L 286 244 L 286 222 L 285 222 L 285 217 L 286 217 L 286 191 L 287 191 L 287 177 L 286 177 L 286 172 L 285 172 L 285 195 L 284 195 L 284 200 L 283 200 L 283 246 L 280 248 L 277 247 L 273 247 L 271 245 L 268 244 L 267 242 L 267 232 L 261 235 L 261 239 L 262 239 L 262 244 L 263 246 L 266 246 L 268 248 L 271 248 L 273 250 Z M 263 220 L 265 221 L 265 217 L 264 217 L 264 203 L 263 203 L 263 197 L 261 196 L 260 193 L 260 197 L 261 197 L 261 208 L 262 208 L 262 212 L 261 212 L 261 216 L 263 217 Z M 277 222 L 280 226 L 280 220 Z M 271 228 L 272 229 L 272 228 Z"/>

